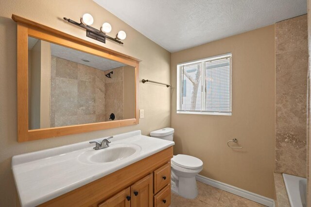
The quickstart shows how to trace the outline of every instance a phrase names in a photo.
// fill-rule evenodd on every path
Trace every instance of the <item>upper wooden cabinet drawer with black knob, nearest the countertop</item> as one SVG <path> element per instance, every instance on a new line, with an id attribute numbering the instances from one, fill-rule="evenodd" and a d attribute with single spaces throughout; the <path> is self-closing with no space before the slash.
<path id="1" fill-rule="evenodd" d="M 166 163 L 154 171 L 154 192 L 157 193 L 164 186 L 171 183 L 171 163 Z"/>

